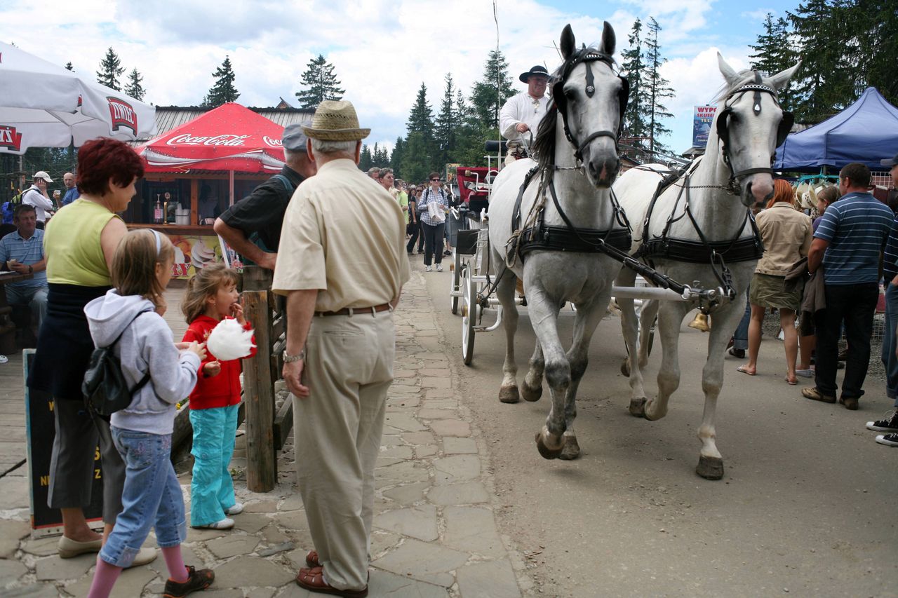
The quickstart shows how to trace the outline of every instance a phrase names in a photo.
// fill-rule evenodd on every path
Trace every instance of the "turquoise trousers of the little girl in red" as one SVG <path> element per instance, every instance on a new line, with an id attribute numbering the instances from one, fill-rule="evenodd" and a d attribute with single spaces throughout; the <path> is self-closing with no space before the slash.
<path id="1" fill-rule="evenodd" d="M 193 426 L 193 480 L 190 482 L 190 525 L 208 525 L 225 519 L 234 505 L 233 479 L 228 465 L 233 457 L 237 409 L 190 409 Z"/>

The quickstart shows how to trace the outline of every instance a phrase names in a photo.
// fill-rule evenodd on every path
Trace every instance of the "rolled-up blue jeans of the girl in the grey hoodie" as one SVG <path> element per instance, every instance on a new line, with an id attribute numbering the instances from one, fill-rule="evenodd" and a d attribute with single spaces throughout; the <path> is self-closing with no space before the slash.
<path id="1" fill-rule="evenodd" d="M 151 528 L 160 548 L 178 546 L 187 538 L 184 498 L 170 459 L 171 434 L 148 434 L 114 426 L 111 432 L 112 442 L 126 466 L 125 489 L 121 495 L 122 511 L 100 558 L 115 567 L 128 567 Z"/>

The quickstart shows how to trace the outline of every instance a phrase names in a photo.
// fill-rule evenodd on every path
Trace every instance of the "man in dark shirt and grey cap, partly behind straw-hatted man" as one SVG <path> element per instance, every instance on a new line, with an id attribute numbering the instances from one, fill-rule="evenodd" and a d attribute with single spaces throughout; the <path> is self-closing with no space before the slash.
<path id="1" fill-rule="evenodd" d="M 301 125 L 287 125 L 284 168 L 216 218 L 216 233 L 262 268 L 275 269 L 287 204 L 299 183 L 315 174 L 315 163 L 305 152 L 307 139 Z"/>

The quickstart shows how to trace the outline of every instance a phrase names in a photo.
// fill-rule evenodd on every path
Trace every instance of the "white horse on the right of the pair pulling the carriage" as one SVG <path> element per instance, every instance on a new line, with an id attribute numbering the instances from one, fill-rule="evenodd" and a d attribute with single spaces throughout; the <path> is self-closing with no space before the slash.
<path id="1" fill-rule="evenodd" d="M 701 451 L 696 472 L 707 479 L 720 479 L 724 473 L 714 427 L 718 394 L 723 384 L 724 351 L 744 313 L 745 289 L 751 281 L 758 256 L 758 248 L 753 251 L 750 241 L 755 229 L 749 207 L 770 198 L 773 193 L 770 164 L 777 145 L 792 126 L 791 114 L 779 107 L 777 92 L 788 83 L 798 67 L 762 78 L 754 71 L 736 73 L 719 54 L 718 64 L 726 85 L 718 96 L 718 111 L 709 132 L 707 152 L 698 164 L 691 165 L 688 176 L 675 180 L 651 209 L 649 206 L 658 183 L 664 176 L 657 171 L 666 170 L 663 166 L 627 171 L 613 187 L 621 207 L 634 225 L 634 252 L 644 238 L 650 241 L 661 236 L 693 242 L 689 251 L 694 251 L 695 245 L 710 246 L 717 251 L 717 256 L 713 257 L 714 267 L 711 266 L 712 254 L 707 249 L 694 253 L 698 257 L 690 263 L 676 255 L 678 251 L 665 253 L 657 242 L 655 246 L 662 252 L 643 258 L 653 263 L 659 272 L 681 283 L 692 285 L 693 281 L 698 281 L 699 286 L 722 289 L 730 295 L 731 301 L 711 306 L 718 309 L 714 311 L 708 359 L 701 375 L 705 409 L 698 434 Z M 646 226 L 648 230 L 644 237 Z M 737 239 L 741 241 L 731 247 L 730 242 Z M 633 271 L 625 268 L 618 284 L 632 286 L 634 277 Z M 629 351 L 629 358 L 621 369 L 624 374 L 629 369 L 630 413 L 650 420 L 663 418 L 667 413 L 667 402 L 680 384 L 677 355 L 680 327 L 683 317 L 695 304 L 653 301 L 644 305 L 640 313 L 642 338 L 638 342 L 633 300 L 620 299 L 618 303 Z M 657 378 L 657 399 L 647 401 L 641 368 L 647 364 L 647 334 L 656 314 L 664 350 Z"/>

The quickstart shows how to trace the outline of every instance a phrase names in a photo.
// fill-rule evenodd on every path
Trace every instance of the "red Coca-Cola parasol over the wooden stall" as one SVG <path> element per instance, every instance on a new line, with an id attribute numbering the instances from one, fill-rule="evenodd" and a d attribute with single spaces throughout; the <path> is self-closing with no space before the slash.
<path id="1" fill-rule="evenodd" d="M 284 128 L 227 103 L 136 149 L 147 172 L 277 172 L 284 165 Z"/>

